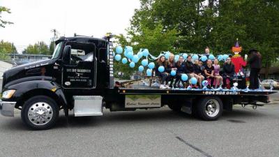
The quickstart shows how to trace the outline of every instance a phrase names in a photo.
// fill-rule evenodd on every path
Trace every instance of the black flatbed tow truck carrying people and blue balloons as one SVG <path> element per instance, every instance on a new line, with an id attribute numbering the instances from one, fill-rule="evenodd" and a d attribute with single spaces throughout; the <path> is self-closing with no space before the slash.
<path id="1" fill-rule="evenodd" d="M 0 110 L 13 117 L 21 110 L 24 124 L 36 130 L 54 126 L 63 110 L 75 117 L 110 111 L 159 108 L 194 114 L 213 121 L 234 104 L 269 103 L 273 91 L 193 91 L 146 86 L 114 87 L 110 36 L 75 36 L 56 40 L 52 59 L 24 64 L 3 73 Z"/>

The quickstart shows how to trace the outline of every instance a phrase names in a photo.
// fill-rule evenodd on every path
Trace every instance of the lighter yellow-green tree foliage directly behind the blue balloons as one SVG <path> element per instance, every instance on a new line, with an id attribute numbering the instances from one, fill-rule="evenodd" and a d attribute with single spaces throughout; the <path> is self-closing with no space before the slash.
<path id="1" fill-rule="evenodd" d="M 116 36 L 116 43 L 120 43 L 122 47 L 127 45 L 133 46 L 134 54 L 137 54 L 140 48 L 146 48 L 152 55 L 158 56 L 160 52 L 166 50 L 174 51 L 173 45 L 177 40 L 177 34 L 176 29 L 165 30 L 160 23 L 156 24 L 152 29 L 142 25 L 140 32 L 135 33 L 132 30 L 128 30 L 128 36 L 123 36 L 123 34 Z M 136 63 L 135 68 L 140 66 L 140 64 L 140 61 Z M 127 65 L 123 65 L 121 61 L 120 63 L 115 61 L 114 70 L 116 73 L 119 71 L 123 72 L 125 74 L 123 77 L 128 79 L 129 75 L 137 69 L 132 70 L 128 63 Z M 118 76 L 116 75 L 116 77 Z"/>

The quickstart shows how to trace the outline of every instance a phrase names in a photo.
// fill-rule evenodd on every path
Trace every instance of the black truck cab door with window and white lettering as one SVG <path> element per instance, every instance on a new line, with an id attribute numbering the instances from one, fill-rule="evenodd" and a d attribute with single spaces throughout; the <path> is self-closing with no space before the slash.
<path id="1" fill-rule="evenodd" d="M 96 88 L 96 46 L 93 43 L 75 42 L 68 42 L 66 46 L 70 46 L 70 50 L 66 54 L 68 61 L 63 63 L 62 87 L 64 89 Z"/>

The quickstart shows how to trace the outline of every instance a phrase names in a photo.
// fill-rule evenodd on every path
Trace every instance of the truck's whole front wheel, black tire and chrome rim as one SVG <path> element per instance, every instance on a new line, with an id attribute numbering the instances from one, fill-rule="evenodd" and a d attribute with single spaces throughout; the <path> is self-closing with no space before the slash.
<path id="1" fill-rule="evenodd" d="M 52 128 L 59 117 L 59 106 L 48 96 L 29 98 L 22 107 L 22 121 L 34 130 Z"/>

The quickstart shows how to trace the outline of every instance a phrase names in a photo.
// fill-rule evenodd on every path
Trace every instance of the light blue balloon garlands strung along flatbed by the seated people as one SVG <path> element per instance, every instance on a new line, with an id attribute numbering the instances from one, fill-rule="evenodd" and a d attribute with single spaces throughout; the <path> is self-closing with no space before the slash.
<path id="1" fill-rule="evenodd" d="M 123 52 L 124 51 L 124 52 Z M 153 62 L 155 59 L 158 59 L 161 55 L 165 56 L 165 59 L 169 59 L 169 56 L 171 52 L 162 52 L 158 57 L 153 57 L 150 53 L 149 50 L 147 49 L 140 49 L 137 54 L 134 54 L 133 52 L 133 47 L 126 46 L 123 50 L 121 46 L 117 46 L 115 49 L 116 54 L 114 53 L 114 59 L 116 61 L 121 61 L 123 64 L 126 64 L 129 62 L 130 68 L 135 68 L 135 63 L 138 63 L 141 59 L 142 61 L 140 62 L 141 65 L 138 67 L 138 70 L 140 72 L 144 71 L 144 68 L 146 68 L 146 75 L 151 76 L 152 75 L 152 69 L 155 68 L 155 63 Z M 121 59 L 121 54 L 123 53 L 123 58 Z M 218 59 L 218 61 L 226 61 L 229 55 L 227 54 L 219 54 L 217 57 L 215 57 L 213 54 L 209 54 L 207 57 L 206 55 L 200 55 L 200 54 L 176 54 L 174 56 L 174 61 L 178 61 L 179 57 L 182 56 L 183 59 L 187 59 L 188 55 L 192 56 L 192 60 L 201 60 L 201 61 L 206 61 L 208 59 L 213 60 L 213 59 Z M 149 58 L 151 57 L 151 59 Z M 149 62 L 151 61 L 151 62 Z M 160 73 L 163 73 L 165 71 L 164 66 L 159 66 L 158 71 Z M 170 75 L 175 76 L 176 75 L 176 70 L 172 70 Z M 181 75 L 181 80 L 182 81 L 187 81 L 188 80 L 188 75 L 183 73 Z M 207 82 L 208 83 L 208 82 Z M 197 79 L 195 77 L 192 77 L 190 79 L 190 84 L 197 84 Z M 206 82 L 202 85 L 206 85 Z M 206 85 L 207 86 L 207 85 Z"/>

